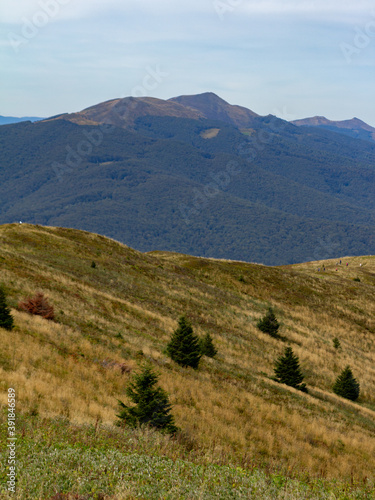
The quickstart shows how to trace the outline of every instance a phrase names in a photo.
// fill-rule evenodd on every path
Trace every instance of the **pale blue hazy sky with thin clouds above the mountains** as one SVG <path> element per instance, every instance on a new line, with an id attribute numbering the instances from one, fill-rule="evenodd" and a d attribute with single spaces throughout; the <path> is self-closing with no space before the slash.
<path id="1" fill-rule="evenodd" d="M 215 92 L 284 119 L 375 126 L 373 0 L 0 3 L 0 115 Z"/>

